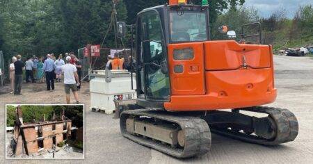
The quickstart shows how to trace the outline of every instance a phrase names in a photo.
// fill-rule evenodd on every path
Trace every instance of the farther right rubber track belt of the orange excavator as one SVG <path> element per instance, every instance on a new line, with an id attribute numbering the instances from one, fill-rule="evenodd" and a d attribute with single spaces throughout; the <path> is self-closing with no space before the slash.
<path id="1" fill-rule="evenodd" d="M 272 107 L 250 107 L 239 108 L 236 110 L 246 110 L 255 113 L 265 113 L 275 122 L 275 136 L 270 139 L 262 138 L 253 134 L 241 133 L 239 129 L 218 129 L 210 126 L 212 133 L 217 133 L 230 138 L 252 142 L 260 145 L 279 145 L 285 142 L 295 140 L 298 135 L 298 121 L 293 113 L 287 109 L 272 108 Z"/>

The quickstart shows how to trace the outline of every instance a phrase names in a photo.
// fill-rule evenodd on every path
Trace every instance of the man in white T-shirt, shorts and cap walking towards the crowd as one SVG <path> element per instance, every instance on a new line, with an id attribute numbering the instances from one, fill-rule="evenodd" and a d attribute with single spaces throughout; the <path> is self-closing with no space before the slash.
<path id="1" fill-rule="evenodd" d="M 77 85 L 79 83 L 79 77 L 77 74 L 77 68 L 75 65 L 70 63 L 71 57 L 67 56 L 65 58 L 65 65 L 62 65 L 62 72 L 64 74 L 64 86 L 65 86 L 65 94 L 66 94 L 66 103 L 70 104 L 70 90 L 72 90 L 74 94 L 74 98 L 76 100 L 76 104 L 79 104 L 79 97 L 77 93 Z M 77 83 L 76 83 L 76 81 Z"/>

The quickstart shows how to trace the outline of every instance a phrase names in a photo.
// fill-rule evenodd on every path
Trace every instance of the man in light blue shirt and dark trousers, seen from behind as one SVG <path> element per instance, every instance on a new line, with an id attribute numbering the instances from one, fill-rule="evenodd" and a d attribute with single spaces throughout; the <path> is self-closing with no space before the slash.
<path id="1" fill-rule="evenodd" d="M 51 55 L 47 55 L 45 60 L 43 71 L 46 73 L 47 90 L 54 90 L 54 60 L 51 59 Z"/>

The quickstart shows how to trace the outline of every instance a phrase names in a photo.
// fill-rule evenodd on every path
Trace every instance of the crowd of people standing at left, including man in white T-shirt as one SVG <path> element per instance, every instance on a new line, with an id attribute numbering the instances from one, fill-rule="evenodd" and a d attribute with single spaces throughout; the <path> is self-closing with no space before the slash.
<path id="1" fill-rule="evenodd" d="M 65 84 L 67 104 L 70 104 L 70 90 L 72 90 L 77 104 L 79 103 L 77 91 L 81 88 L 81 62 L 74 52 L 65 53 L 65 58 L 60 54 L 57 59 L 54 54 L 47 54 L 45 58 L 33 56 L 27 58 L 25 63 L 22 62 L 21 55 L 13 56 L 10 63 L 10 82 L 11 93 L 14 95 L 21 95 L 23 69 L 25 69 L 26 83 L 35 83 L 36 80 L 39 83 L 46 81 L 49 91 L 54 90 L 54 80 L 56 79 L 56 82 L 60 83 L 64 74 L 63 83 Z"/>

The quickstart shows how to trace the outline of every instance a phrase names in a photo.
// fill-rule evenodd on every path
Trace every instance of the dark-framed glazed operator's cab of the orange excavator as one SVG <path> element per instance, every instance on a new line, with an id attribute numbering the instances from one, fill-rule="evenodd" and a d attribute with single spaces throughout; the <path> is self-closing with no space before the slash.
<path id="1" fill-rule="evenodd" d="M 170 101 L 168 44 L 204 42 L 209 40 L 207 6 L 174 5 L 147 8 L 138 13 L 136 21 L 136 73 L 138 104 L 163 108 Z M 192 49 L 177 53 L 193 58 Z M 175 72 L 183 72 L 181 66 Z"/>

